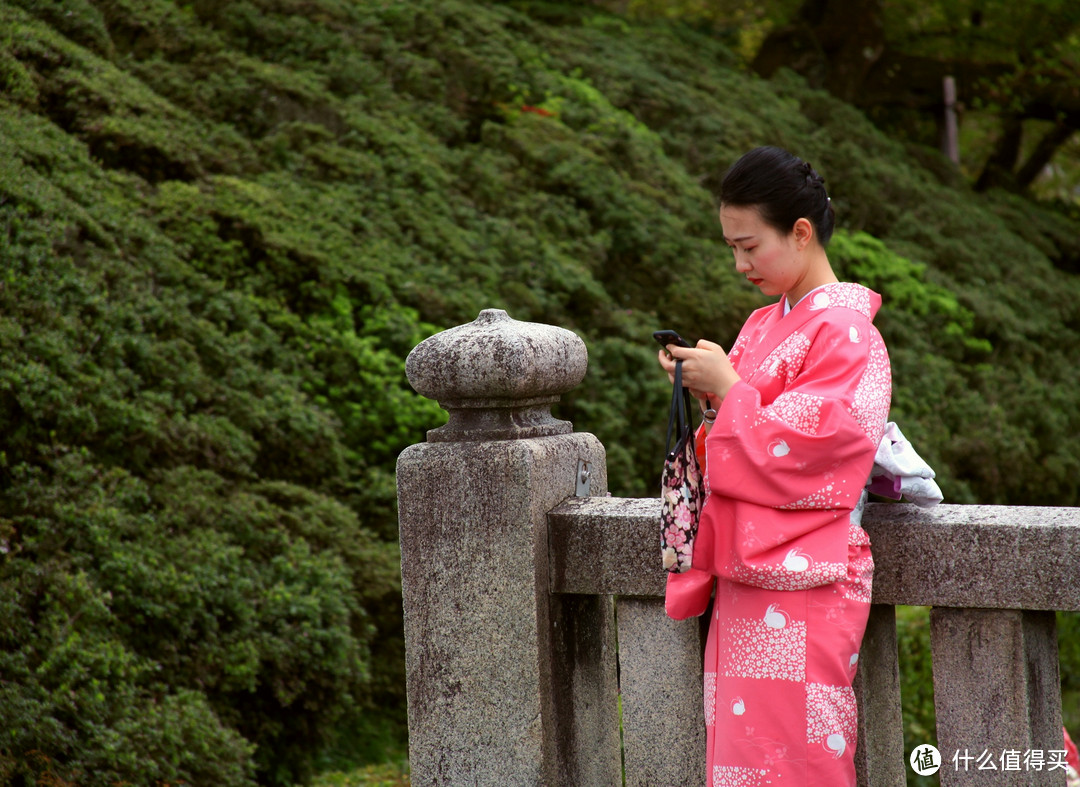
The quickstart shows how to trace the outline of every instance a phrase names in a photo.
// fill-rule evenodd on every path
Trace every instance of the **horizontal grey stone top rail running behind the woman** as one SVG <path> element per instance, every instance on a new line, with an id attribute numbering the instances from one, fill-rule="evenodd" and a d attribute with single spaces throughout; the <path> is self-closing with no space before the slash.
<path id="1" fill-rule="evenodd" d="M 553 593 L 663 596 L 659 498 L 571 498 L 548 515 Z M 1080 610 L 1080 508 L 870 503 L 874 602 Z"/>

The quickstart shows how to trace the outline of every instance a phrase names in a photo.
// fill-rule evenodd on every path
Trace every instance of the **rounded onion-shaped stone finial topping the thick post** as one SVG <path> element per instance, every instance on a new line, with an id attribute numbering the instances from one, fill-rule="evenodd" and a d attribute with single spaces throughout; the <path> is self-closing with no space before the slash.
<path id="1" fill-rule="evenodd" d="M 572 431 L 551 406 L 584 379 L 588 365 L 576 334 L 485 309 L 417 344 L 405 374 L 417 393 L 450 415 L 428 432 L 430 442 L 522 439 Z"/>

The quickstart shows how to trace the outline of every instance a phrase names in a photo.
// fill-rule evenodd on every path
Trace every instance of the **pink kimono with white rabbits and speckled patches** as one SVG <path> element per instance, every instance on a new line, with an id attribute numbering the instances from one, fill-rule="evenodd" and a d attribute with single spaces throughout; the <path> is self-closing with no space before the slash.
<path id="1" fill-rule="evenodd" d="M 874 560 L 853 525 L 889 413 L 889 355 L 858 284 L 759 309 L 728 353 L 742 380 L 698 435 L 708 497 L 673 618 L 701 614 L 711 787 L 855 784 L 851 689 Z"/>

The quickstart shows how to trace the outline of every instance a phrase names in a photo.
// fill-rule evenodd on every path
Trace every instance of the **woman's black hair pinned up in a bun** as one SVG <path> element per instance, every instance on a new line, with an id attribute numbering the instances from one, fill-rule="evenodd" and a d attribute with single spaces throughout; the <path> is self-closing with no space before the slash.
<path id="1" fill-rule="evenodd" d="M 833 236 L 836 214 L 825 178 L 783 148 L 754 148 L 731 165 L 720 184 L 720 204 L 756 207 L 767 225 L 787 234 L 809 219 L 822 246 Z"/>

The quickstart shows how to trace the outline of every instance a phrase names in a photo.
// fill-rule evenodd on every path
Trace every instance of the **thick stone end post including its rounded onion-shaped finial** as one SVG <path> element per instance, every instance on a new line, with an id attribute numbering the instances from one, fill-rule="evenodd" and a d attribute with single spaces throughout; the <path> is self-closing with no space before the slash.
<path id="1" fill-rule="evenodd" d="M 449 412 L 397 460 L 416 785 L 617 784 L 610 599 L 549 592 L 548 512 L 583 490 L 581 466 L 586 493 L 606 491 L 603 445 L 550 411 L 586 364 L 572 333 L 494 309 L 408 356 Z M 572 669 L 609 691 L 561 700 Z M 608 742 L 588 762 L 583 735 Z"/>

